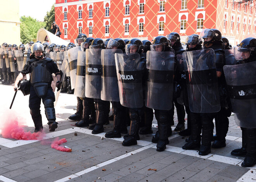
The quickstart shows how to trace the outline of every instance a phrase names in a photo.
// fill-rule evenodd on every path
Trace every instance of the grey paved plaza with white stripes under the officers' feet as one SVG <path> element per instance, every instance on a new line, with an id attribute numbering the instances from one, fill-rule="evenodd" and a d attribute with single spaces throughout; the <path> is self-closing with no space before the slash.
<path id="1" fill-rule="evenodd" d="M 0 85 L 1 123 L 6 116 L 17 116 L 26 131 L 34 131 L 28 107 L 29 96 L 19 91 L 14 105 L 13 87 Z M 243 168 L 244 157 L 230 155 L 242 145 L 241 130 L 230 116 L 227 146 L 211 149 L 207 156 L 199 156 L 196 150 L 183 150 L 186 137 L 173 131 L 170 144 L 163 152 L 156 151 L 151 142 L 157 131 L 154 118 L 153 134 L 140 135 L 138 145 L 122 146 L 123 138 L 104 138 L 112 130 L 113 121 L 104 125 L 104 132 L 92 134 L 87 127 L 77 128 L 67 119 L 74 114 L 76 97 L 60 94 L 55 107 L 59 127 L 49 133 L 44 106 L 41 104 L 45 135 L 38 140 L 5 139 L 0 134 L 0 181 L 3 182 L 253 182 L 256 166 Z M 8 120 L 8 118 L 7 118 Z M 175 111 L 175 125 L 177 124 Z M 187 126 L 186 126 L 187 127 Z M 129 127 L 128 127 L 129 129 Z M 173 127 L 174 129 L 174 127 Z M 122 134 L 123 136 L 124 134 Z M 72 152 L 51 148 L 50 143 L 59 137 L 66 138 L 63 145 Z"/>

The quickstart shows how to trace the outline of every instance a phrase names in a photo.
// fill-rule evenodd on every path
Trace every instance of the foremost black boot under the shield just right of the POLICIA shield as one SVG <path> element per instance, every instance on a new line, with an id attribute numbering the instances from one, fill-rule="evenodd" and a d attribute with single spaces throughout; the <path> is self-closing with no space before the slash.
<path id="1" fill-rule="evenodd" d="M 169 119 L 166 119 L 168 122 Z M 168 128 L 170 128 L 170 124 L 168 123 L 161 123 L 158 122 L 158 133 L 159 133 L 159 140 L 156 145 L 156 151 L 164 151 L 166 149 L 166 145 L 169 144 L 168 140 Z"/>

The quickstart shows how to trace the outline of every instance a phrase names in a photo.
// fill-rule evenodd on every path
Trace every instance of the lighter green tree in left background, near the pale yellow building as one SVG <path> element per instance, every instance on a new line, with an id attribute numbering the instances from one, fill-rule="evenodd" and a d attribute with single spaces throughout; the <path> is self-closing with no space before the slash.
<path id="1" fill-rule="evenodd" d="M 21 19 L 21 42 L 23 44 L 36 39 L 39 29 L 45 27 L 45 22 L 39 22 L 32 17 L 22 16 Z"/>

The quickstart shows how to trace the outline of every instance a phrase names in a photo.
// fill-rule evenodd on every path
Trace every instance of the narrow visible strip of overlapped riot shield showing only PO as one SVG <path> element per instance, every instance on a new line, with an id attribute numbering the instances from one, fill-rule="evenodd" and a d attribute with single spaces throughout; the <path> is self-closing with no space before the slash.
<path id="1" fill-rule="evenodd" d="M 188 92 L 187 92 L 187 82 L 186 82 L 186 73 L 184 70 L 184 60 L 182 54 L 177 54 L 177 75 L 178 85 L 181 87 L 180 96 L 177 97 L 177 102 L 179 104 L 189 106 Z"/>

